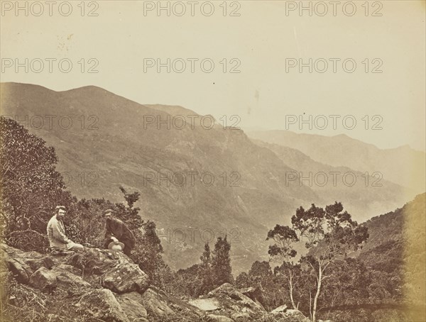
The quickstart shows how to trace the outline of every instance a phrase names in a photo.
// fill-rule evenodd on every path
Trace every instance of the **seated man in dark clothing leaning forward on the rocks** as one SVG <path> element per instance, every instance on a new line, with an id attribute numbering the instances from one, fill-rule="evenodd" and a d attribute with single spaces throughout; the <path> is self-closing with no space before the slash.
<path id="1" fill-rule="evenodd" d="M 124 243 L 124 254 L 130 256 L 131 249 L 135 245 L 135 236 L 126 224 L 118 218 L 114 218 L 114 211 L 107 209 L 104 211 L 106 218 L 106 233 L 104 248 L 108 248 L 109 243 L 119 241 Z"/>

